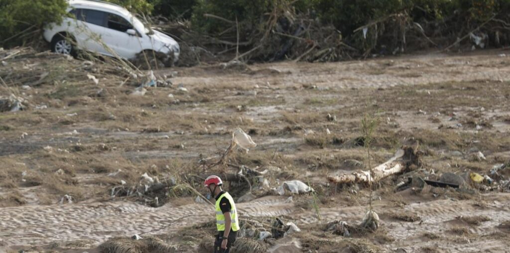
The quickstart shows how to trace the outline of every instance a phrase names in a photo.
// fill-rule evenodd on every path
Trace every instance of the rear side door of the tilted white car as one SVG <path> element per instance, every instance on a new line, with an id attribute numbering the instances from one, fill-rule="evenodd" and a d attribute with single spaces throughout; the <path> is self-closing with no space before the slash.
<path id="1" fill-rule="evenodd" d="M 79 19 L 84 26 L 78 31 L 84 49 L 93 53 L 111 55 L 104 42 L 107 30 L 107 13 L 98 10 L 81 9 Z"/>

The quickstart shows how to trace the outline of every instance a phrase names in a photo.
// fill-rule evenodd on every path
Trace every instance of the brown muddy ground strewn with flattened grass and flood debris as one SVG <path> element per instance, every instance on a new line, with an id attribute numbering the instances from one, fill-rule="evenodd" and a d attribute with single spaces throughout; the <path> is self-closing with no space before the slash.
<path id="1" fill-rule="evenodd" d="M 115 252 L 204 250 L 213 240 L 214 211 L 196 203 L 195 192 L 168 188 L 156 201 L 155 195 L 126 197 L 115 189 L 137 185 L 147 173 L 205 194 L 199 187 L 203 175 L 237 173 L 244 165 L 267 170 L 270 188 L 301 180 L 316 189 L 279 196 L 261 188 L 255 199 L 238 204 L 247 226 L 259 223 L 259 230 L 270 231 L 274 217 L 283 217 L 300 227 L 283 239 L 255 242 L 269 252 L 508 252 L 510 194 L 503 189 L 480 190 L 468 178 L 463 191 L 395 191 L 415 174 L 491 175 L 496 164 L 506 169 L 491 175 L 495 182 L 508 180 L 505 54 L 171 68 L 156 74 L 176 71 L 173 85 L 148 87 L 143 96 L 106 74 L 97 85 L 87 78 L 31 88 L 8 83 L 3 92 L 23 96 L 30 106 L 0 113 L 0 251 L 107 252 L 105 244 L 98 247 L 107 241 Z M 37 64 L 30 61 L 29 67 Z M 369 189 L 331 184 L 326 176 L 368 166 L 358 138 L 366 115 L 379 122 L 372 167 L 403 145 L 419 146 L 423 167 L 375 186 L 377 232 L 343 237 L 326 224 L 358 224 L 368 210 Z M 238 127 L 256 148 L 236 149 L 211 170 L 198 165 L 221 154 Z M 477 159 L 478 151 L 486 159 Z M 226 182 L 226 189 L 236 198 L 246 193 L 238 182 Z M 125 249 L 135 234 L 172 249 Z"/>

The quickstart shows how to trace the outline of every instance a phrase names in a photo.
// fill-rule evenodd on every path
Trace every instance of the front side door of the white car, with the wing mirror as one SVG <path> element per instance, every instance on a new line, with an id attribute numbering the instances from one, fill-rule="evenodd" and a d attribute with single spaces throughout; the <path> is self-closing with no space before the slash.
<path id="1" fill-rule="evenodd" d="M 107 30 L 103 41 L 120 57 L 131 59 L 141 52 L 141 34 L 129 20 L 114 13 L 107 13 Z M 127 30 L 134 30 L 136 35 L 128 34 Z"/>

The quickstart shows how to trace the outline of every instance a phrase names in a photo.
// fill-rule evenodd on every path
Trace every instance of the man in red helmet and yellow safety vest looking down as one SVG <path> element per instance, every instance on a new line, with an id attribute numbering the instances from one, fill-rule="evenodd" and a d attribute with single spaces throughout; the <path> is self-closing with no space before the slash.
<path id="1" fill-rule="evenodd" d="M 218 235 L 214 242 L 215 253 L 228 253 L 237 238 L 239 220 L 234 199 L 228 192 L 221 189 L 221 179 L 218 176 L 208 176 L 203 185 L 209 188 L 211 196 L 216 198 L 216 229 Z"/>

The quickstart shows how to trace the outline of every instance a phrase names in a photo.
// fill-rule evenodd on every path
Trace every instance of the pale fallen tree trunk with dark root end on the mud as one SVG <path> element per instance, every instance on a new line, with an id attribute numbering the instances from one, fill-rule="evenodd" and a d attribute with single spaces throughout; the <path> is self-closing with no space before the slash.
<path id="1" fill-rule="evenodd" d="M 403 149 L 397 150 L 390 160 L 374 167 L 372 169 L 373 178 L 370 176 L 370 170 L 362 170 L 355 171 L 352 174 L 328 176 L 327 180 L 335 184 L 377 182 L 389 175 L 403 172 L 409 169 L 412 165 L 421 165 L 419 156 L 414 148 L 404 147 Z"/>

